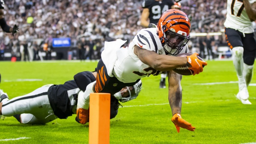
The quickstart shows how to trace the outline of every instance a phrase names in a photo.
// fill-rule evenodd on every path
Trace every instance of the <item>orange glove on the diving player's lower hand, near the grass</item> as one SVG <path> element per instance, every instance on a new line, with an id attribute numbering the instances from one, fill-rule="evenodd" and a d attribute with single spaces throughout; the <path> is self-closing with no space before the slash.
<path id="1" fill-rule="evenodd" d="M 172 117 L 172 122 L 175 125 L 177 132 L 180 132 L 180 127 L 186 128 L 190 131 L 195 131 L 196 127 L 192 126 L 189 122 L 181 118 L 180 114 L 174 114 Z"/>

